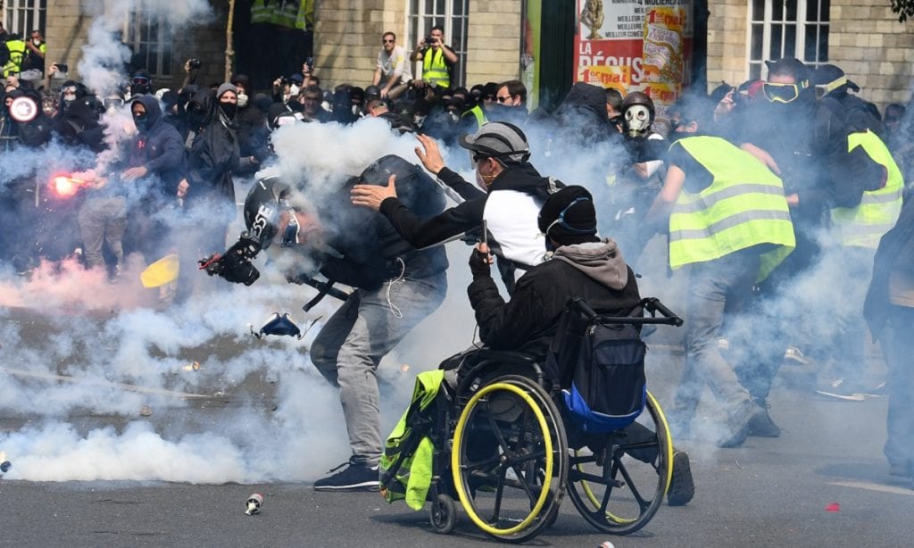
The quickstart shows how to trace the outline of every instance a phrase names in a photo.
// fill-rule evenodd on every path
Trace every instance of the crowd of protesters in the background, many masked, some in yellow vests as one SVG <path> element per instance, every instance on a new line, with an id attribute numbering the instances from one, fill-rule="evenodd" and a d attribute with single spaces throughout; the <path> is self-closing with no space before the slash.
<path id="1" fill-rule="evenodd" d="M 30 40 L 23 56 L 43 69 L 43 38 L 33 33 Z M 430 143 L 456 144 L 462 134 L 493 121 L 531 136 L 546 134 L 537 131 L 545 127 L 556 141 L 614 147 L 604 176 L 579 183 L 606 220 L 600 231 L 617 241 L 630 264 L 637 266 L 661 233 L 669 240 L 669 266 L 691 269 L 684 299 L 685 378 L 671 408 L 679 436 L 689 431 L 705 385 L 725 411 L 721 447 L 739 446 L 749 436 L 779 436 L 768 396 L 785 342 L 796 346 L 786 354 L 793 359 L 805 360 L 805 353 L 833 364 L 821 394 L 855 399 L 877 392 L 864 368 L 863 299 L 880 237 L 896 224 L 914 168 L 905 107 L 889 105 L 882 115 L 857 95 L 859 88 L 841 68 L 813 69 L 782 58 L 769 63 L 765 80 L 722 84 L 663 110 L 641 91 L 623 94 L 578 83 L 555 109 L 528 111 L 527 90 L 518 80 L 457 85 L 457 58 L 441 27 L 411 52 L 396 42 L 394 33 L 383 35 L 372 85 L 364 89 L 324 87 L 310 58 L 300 73 L 275 79 L 263 93 L 251 89 L 244 74 L 201 86 L 195 59 L 187 61 L 179 90 L 156 89 L 139 69 L 103 97 L 79 81 L 55 78 L 63 71 L 53 64 L 44 86 L 5 74 L 5 158 L 59 145 L 88 151 L 91 160 L 72 166 L 80 172 L 73 180 L 87 188 L 73 205 L 69 230 L 57 224 L 69 241 L 56 249 L 42 244 L 40 227 L 27 228 L 30 216 L 41 216 L 29 210 L 37 207 L 34 193 L 27 193 L 34 174 L 3 182 L 0 258 L 26 272 L 40 258 L 58 259 L 80 248 L 87 268 L 107 269 L 116 281 L 124 254 L 141 252 L 152 262 L 178 245 L 165 236 L 165 211 L 195 207 L 207 212 L 195 221 L 197 257 L 219 251 L 236 214 L 236 181 L 271 163 L 271 133 L 289 124 L 377 117 L 393 132 L 417 134 L 426 149 Z M 420 78 L 412 78 L 413 68 Z M 105 132 L 105 117 L 119 111 L 133 121 L 120 140 Z M 550 143 L 537 146 L 548 150 Z M 100 165 L 101 157 L 113 159 Z M 847 258 L 847 275 L 833 280 L 834 292 L 853 306 L 834 317 L 840 329 L 801 337 L 796 326 L 804 321 L 802 307 L 785 313 L 771 303 L 790 300 L 796 283 L 835 250 Z M 877 327 L 898 333 L 914 283 L 896 272 L 914 268 L 879 264 L 887 270 L 877 270 L 876 279 L 891 280 L 890 289 L 877 288 L 879 295 L 898 310 L 888 319 L 879 316 Z M 903 364 L 893 363 L 906 355 L 898 350 L 903 337 L 886 337 L 894 349 L 887 352 L 890 377 L 897 377 L 886 388 L 898 402 L 898 387 L 911 385 L 911 369 L 905 376 L 898 373 Z M 890 404 L 886 453 L 893 474 L 914 473 L 912 424 L 908 411 Z"/>

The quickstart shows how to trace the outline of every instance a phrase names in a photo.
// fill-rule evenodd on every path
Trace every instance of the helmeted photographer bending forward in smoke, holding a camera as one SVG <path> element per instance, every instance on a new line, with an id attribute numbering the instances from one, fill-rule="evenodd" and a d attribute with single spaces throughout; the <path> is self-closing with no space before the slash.
<path id="1" fill-rule="evenodd" d="M 320 204 L 279 177 L 268 177 L 254 184 L 245 200 L 250 234 L 224 258 L 204 263 L 210 275 L 250 285 L 258 276 L 250 258 L 277 237 L 282 248 L 300 254 L 296 266 L 316 263 L 331 282 L 355 288 L 311 345 L 314 366 L 339 386 L 352 448 L 347 462 L 337 467 L 342 470 L 317 480 L 315 490 L 377 490 L 383 440 L 375 371 L 381 359 L 441 305 L 447 290 L 444 248 L 412 248 L 384 216 L 348 203 L 353 184 L 395 177 L 399 194 L 411 207 L 430 215 L 441 212 L 444 198 L 437 184 L 398 156 L 379 159 Z M 325 188 L 326 182 L 315 183 Z M 307 273 L 287 279 L 314 284 Z"/>

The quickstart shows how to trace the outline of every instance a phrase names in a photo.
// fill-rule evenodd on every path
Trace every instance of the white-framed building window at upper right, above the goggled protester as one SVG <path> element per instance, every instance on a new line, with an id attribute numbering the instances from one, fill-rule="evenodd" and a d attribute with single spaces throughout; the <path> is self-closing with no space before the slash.
<path id="1" fill-rule="evenodd" d="M 831 0 L 749 0 L 749 79 L 767 76 L 766 59 L 827 63 L 830 7 Z"/>

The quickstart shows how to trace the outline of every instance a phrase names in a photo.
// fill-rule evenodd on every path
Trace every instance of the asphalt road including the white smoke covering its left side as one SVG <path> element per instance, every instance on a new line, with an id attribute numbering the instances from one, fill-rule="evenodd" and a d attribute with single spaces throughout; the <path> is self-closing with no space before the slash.
<path id="1" fill-rule="evenodd" d="M 221 295 L 229 308 L 193 311 L 174 326 L 165 316 L 109 311 L 0 312 L 0 450 L 13 464 L 0 479 L 0 545 L 493 543 L 465 515 L 441 536 L 430 531 L 427 511 L 388 505 L 377 493 L 312 489 L 345 458 L 338 401 L 302 365 L 295 346 L 307 340 L 258 342 L 228 317 L 251 306 L 253 291 Z M 464 299 L 452 280 L 444 307 L 404 341 L 415 352 L 382 364 L 385 428 L 404 408 L 412 373 L 467 346 L 473 319 Z M 142 333 L 124 328 L 135 324 Z M 204 325 L 210 331 L 201 334 Z M 676 335 L 658 332 L 648 342 L 649 385 L 664 404 L 680 376 Z M 188 369 L 194 361 L 200 370 Z M 399 364 L 413 367 L 400 373 Z M 555 525 L 529 544 L 909 546 L 914 486 L 887 476 L 886 399 L 826 400 L 809 390 L 808 373 L 781 372 L 771 396 L 781 437 L 751 437 L 736 449 L 706 437 L 677 440 L 696 479 L 687 506 L 664 506 L 642 531 L 611 537 L 566 499 Z M 699 435 L 713 422 L 711 399 L 699 408 Z M 247 516 L 252 492 L 265 502 Z"/>

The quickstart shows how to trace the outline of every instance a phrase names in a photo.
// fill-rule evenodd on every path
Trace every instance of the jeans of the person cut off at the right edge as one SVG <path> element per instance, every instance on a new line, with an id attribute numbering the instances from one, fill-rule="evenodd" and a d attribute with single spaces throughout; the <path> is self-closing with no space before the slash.
<path id="1" fill-rule="evenodd" d="M 884 452 L 889 464 L 914 467 L 914 309 L 892 306 L 882 340 L 888 376 L 887 439 Z"/>

